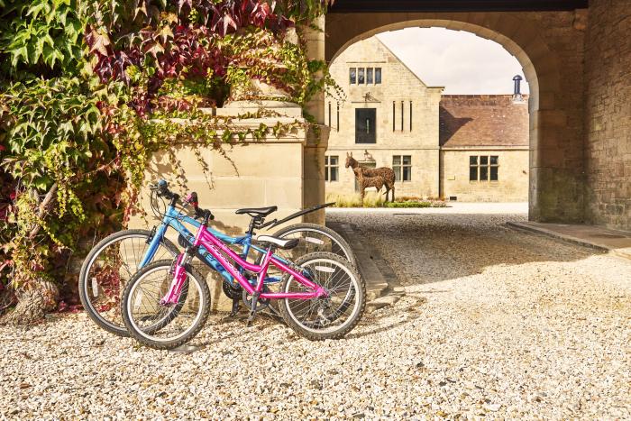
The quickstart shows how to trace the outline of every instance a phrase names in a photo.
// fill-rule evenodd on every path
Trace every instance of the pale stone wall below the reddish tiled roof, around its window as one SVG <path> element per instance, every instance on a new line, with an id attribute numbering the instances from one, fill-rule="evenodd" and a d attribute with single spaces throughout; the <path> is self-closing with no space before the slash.
<path id="1" fill-rule="evenodd" d="M 470 181 L 469 157 L 498 156 L 498 181 Z M 450 149 L 441 151 L 441 194 L 459 202 L 526 202 L 528 150 Z"/>

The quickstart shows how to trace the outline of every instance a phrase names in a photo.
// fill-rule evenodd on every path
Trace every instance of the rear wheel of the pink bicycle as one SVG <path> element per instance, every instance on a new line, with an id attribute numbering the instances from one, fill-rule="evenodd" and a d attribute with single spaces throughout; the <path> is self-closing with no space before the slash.
<path id="1" fill-rule="evenodd" d="M 315 252 L 296 261 L 316 284 L 326 289 L 328 297 L 283 299 L 280 314 L 297 334 L 312 341 L 339 339 L 357 325 L 366 306 L 366 288 L 359 272 L 343 257 L 329 252 Z M 308 290 L 293 276 L 286 275 L 280 290 Z"/>

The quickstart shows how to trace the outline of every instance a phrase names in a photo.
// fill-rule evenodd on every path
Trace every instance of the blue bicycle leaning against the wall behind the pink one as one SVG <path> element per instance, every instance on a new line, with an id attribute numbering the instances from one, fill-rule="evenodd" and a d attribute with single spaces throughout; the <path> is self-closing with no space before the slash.
<path id="1" fill-rule="evenodd" d="M 128 336 L 120 313 L 120 299 L 127 281 L 152 261 L 172 260 L 178 256 L 180 253 L 178 246 L 166 237 L 169 228 L 178 233 L 178 243 L 183 248 L 193 243 L 195 235 L 187 229 L 185 224 L 194 227 L 193 231 L 196 231 L 200 225 L 197 221 L 200 216 L 197 215 L 197 194 L 192 193 L 184 203 L 196 210 L 194 216 L 187 215 L 183 207 L 178 208 L 179 199 L 177 193 L 169 190 L 167 182 L 160 180 L 151 186 L 151 209 L 154 215 L 160 217 L 160 224 L 154 226 L 151 231 L 134 229 L 113 233 L 97 243 L 88 253 L 79 274 L 78 290 L 87 315 L 96 325 L 112 334 Z M 169 200 L 168 205 L 165 200 Z M 254 230 L 270 230 L 299 216 L 331 205 L 314 206 L 289 215 L 280 221 L 274 219 L 268 223 L 265 222 L 265 218 L 275 212 L 277 206 L 239 209 L 236 214 L 251 216 L 247 233 L 233 237 L 212 228 L 208 229 L 222 242 L 230 244 L 243 259 L 257 260 L 265 254 L 266 250 L 252 243 Z M 290 255 L 283 256 L 281 253 L 280 258 L 295 260 L 310 252 L 334 252 L 353 265 L 355 264 L 350 245 L 338 233 L 325 226 L 292 224 L 273 233 L 273 236 L 299 240 L 298 246 L 287 252 L 291 253 Z M 198 257 L 199 261 L 222 277 L 224 294 L 233 300 L 233 314 L 238 311 L 239 302 L 243 301 L 246 306 L 250 304 L 248 297 L 232 275 L 210 253 L 201 248 Z M 270 283 L 279 280 L 273 276 L 273 273 L 268 279 Z"/>

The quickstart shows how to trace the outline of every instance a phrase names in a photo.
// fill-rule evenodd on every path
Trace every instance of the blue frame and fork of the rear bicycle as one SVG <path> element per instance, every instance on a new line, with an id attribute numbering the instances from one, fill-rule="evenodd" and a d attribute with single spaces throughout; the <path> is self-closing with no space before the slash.
<path id="1" fill-rule="evenodd" d="M 191 224 L 195 226 L 197 229 L 199 229 L 199 227 L 202 226 L 201 223 L 191 218 L 190 216 L 181 215 L 178 212 L 178 210 L 175 208 L 175 206 L 169 206 L 167 208 L 167 211 L 164 217 L 162 218 L 162 221 L 157 227 L 155 227 L 155 233 L 153 234 L 153 237 L 151 238 L 151 242 L 149 243 L 149 248 L 147 249 L 147 252 L 145 252 L 144 256 L 142 257 L 141 263 L 138 265 L 139 270 L 144 268 L 153 260 L 155 253 L 158 251 L 158 248 L 160 247 L 160 240 L 162 239 L 162 237 L 164 237 L 165 233 L 167 233 L 169 226 L 175 229 L 180 235 L 184 236 L 187 239 L 188 243 L 193 243 L 195 241 L 195 235 L 193 235 L 193 233 L 188 231 L 187 227 L 184 224 L 182 224 L 182 222 Z M 254 249 L 257 252 L 261 252 L 261 253 L 266 252 L 265 250 L 255 245 L 252 245 L 251 234 L 245 234 L 240 237 L 231 237 L 230 235 L 220 233 L 209 227 L 206 227 L 206 230 L 213 233 L 213 235 L 216 238 L 221 239 L 221 241 L 223 241 L 224 243 L 241 245 L 242 255 L 246 258 L 248 254 L 250 253 L 251 249 Z M 204 257 L 203 261 L 208 266 L 210 266 L 213 270 L 216 270 L 222 277 L 224 277 L 224 279 L 229 281 L 231 284 L 234 284 L 233 275 L 231 275 L 231 273 L 228 270 L 225 270 L 224 266 L 222 266 L 218 261 L 216 261 L 216 259 L 211 255 L 211 253 L 207 252 L 206 247 L 203 247 L 203 248 L 200 247 L 200 251 L 201 251 L 202 257 Z M 285 261 L 280 257 L 277 257 L 277 259 L 279 259 L 280 261 Z M 274 281 L 274 282 L 278 282 L 279 280 L 280 279 L 269 279 L 269 281 Z"/>

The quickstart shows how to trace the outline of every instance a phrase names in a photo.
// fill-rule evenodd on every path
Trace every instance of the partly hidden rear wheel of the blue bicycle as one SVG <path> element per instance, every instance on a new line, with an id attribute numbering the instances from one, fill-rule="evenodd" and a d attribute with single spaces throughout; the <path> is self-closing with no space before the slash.
<path id="1" fill-rule="evenodd" d="M 342 238 L 342 235 L 325 225 L 293 224 L 277 231 L 274 236 L 299 240 L 297 247 L 292 250 L 276 252 L 288 260 L 296 260 L 300 256 L 313 252 L 332 252 L 350 261 L 353 266 L 356 265 L 355 255 L 349 243 Z"/>

